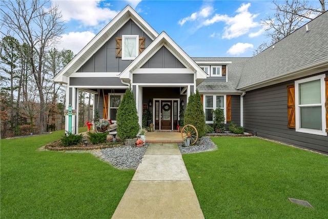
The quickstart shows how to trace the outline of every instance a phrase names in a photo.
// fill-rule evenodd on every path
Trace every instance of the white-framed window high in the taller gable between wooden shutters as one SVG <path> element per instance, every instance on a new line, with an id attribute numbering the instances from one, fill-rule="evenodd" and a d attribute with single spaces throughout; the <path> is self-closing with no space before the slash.
<path id="1" fill-rule="evenodd" d="M 122 35 L 122 59 L 133 60 L 139 52 L 138 35 Z"/>

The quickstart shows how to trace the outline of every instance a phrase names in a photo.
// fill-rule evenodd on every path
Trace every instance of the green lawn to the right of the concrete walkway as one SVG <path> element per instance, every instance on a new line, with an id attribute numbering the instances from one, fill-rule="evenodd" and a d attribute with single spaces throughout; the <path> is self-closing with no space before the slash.
<path id="1" fill-rule="evenodd" d="M 328 218 L 328 156 L 253 137 L 212 140 L 218 150 L 183 155 L 206 218 Z"/>

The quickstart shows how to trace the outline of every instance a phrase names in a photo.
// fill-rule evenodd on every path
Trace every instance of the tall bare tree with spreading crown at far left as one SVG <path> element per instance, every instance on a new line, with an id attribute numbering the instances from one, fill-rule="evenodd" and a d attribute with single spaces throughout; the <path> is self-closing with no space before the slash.
<path id="1" fill-rule="evenodd" d="M 0 9 L 3 26 L 15 32 L 22 43 L 30 49 L 29 59 L 39 96 L 40 131 L 46 130 L 46 104 L 44 95 L 46 50 L 58 43 L 59 36 L 64 33 L 64 23 L 58 6 L 49 1 L 3 1 Z"/>

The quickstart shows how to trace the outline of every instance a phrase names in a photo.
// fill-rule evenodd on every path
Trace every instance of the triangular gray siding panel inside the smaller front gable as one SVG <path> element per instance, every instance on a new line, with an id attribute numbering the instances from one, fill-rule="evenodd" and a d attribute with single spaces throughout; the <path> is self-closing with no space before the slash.
<path id="1" fill-rule="evenodd" d="M 165 46 L 163 46 L 141 68 L 186 67 Z"/>

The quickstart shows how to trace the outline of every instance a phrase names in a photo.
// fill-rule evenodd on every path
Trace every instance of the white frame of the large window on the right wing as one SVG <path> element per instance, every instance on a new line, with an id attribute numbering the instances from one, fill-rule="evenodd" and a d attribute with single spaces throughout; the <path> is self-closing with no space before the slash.
<path id="1" fill-rule="evenodd" d="M 295 81 L 295 125 L 296 125 L 296 132 L 302 132 L 302 133 L 309 133 L 309 134 L 316 134 L 316 135 L 323 135 L 327 136 L 327 133 L 325 132 L 326 128 L 326 120 L 325 120 L 325 84 L 324 84 L 324 77 L 325 74 L 316 75 L 304 79 L 300 79 Z M 305 83 L 305 82 L 311 82 L 320 79 L 320 85 L 321 85 L 321 104 L 315 104 L 315 106 L 321 105 L 321 124 L 322 124 L 322 130 L 315 130 L 315 129 L 306 129 L 300 127 L 300 107 L 299 107 L 299 84 Z M 310 105 L 311 106 L 311 105 Z"/>

